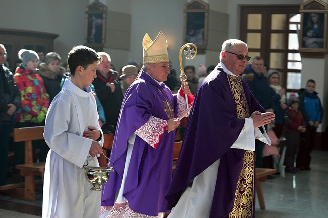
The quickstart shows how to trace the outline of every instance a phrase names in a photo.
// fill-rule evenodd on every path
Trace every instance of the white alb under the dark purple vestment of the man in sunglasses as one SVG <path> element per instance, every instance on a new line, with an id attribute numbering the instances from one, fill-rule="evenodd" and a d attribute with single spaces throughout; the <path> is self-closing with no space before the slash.
<path id="1" fill-rule="evenodd" d="M 265 128 L 260 128 L 263 128 L 263 134 L 259 128 L 254 128 L 252 118 L 245 118 L 244 127 L 231 148 L 255 151 L 255 139 L 271 144 Z M 220 159 L 195 177 L 192 186 L 183 192 L 168 218 L 209 217 L 219 166 Z"/>

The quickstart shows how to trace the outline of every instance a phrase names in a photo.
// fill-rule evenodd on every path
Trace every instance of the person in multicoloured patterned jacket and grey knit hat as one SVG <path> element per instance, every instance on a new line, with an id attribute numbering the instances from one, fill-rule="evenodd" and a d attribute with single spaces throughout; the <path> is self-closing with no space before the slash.
<path id="1" fill-rule="evenodd" d="M 49 94 L 37 69 L 39 56 L 35 51 L 21 49 L 18 57 L 22 60 L 22 64 L 15 70 L 14 81 L 21 94 L 21 108 L 15 115 L 15 128 L 43 126 L 49 107 Z M 40 148 L 39 161 L 45 161 L 49 147 L 44 140 L 33 141 L 33 152 L 37 148 Z M 12 171 L 14 182 L 21 181 L 19 170 L 15 165 L 24 164 L 24 154 L 24 142 L 16 142 Z M 37 161 L 35 156 L 33 158 Z"/>

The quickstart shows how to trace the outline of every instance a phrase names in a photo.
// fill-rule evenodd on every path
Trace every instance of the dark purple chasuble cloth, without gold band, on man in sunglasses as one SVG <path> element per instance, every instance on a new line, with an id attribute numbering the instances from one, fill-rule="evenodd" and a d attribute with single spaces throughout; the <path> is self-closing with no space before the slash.
<path id="1" fill-rule="evenodd" d="M 256 110 L 265 112 L 246 81 L 242 77 L 240 80 L 249 113 Z M 234 95 L 238 97 L 238 93 Z M 179 161 L 165 197 L 169 202 L 168 209 L 177 204 L 183 190 L 197 175 L 220 159 L 209 218 L 229 217 L 245 155 L 245 150 L 230 147 L 244 123 L 245 119 L 238 118 L 227 74 L 217 66 L 197 90 Z"/>

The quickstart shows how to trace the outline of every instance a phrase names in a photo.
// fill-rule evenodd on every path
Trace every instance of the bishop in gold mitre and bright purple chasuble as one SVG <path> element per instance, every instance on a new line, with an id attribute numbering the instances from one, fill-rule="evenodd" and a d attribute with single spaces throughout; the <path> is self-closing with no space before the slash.
<path id="1" fill-rule="evenodd" d="M 109 166 L 102 187 L 100 217 L 162 217 L 172 179 L 177 119 L 192 103 L 188 84 L 173 95 L 163 83 L 170 74 L 165 36 L 143 39 L 143 69 L 121 107 Z M 160 213 L 160 214 L 159 214 Z"/>

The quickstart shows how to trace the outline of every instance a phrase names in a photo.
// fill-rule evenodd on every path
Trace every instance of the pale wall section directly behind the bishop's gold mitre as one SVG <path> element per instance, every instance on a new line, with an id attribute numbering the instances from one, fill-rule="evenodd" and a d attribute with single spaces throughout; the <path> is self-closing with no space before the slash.
<path id="1" fill-rule="evenodd" d="M 179 72 L 179 50 L 183 39 L 183 5 L 186 0 L 131 1 L 130 59 L 142 62 L 142 39 L 146 33 L 154 40 L 161 30 L 168 41 L 173 68 Z"/>

